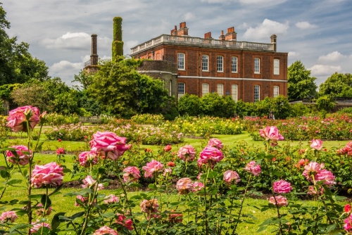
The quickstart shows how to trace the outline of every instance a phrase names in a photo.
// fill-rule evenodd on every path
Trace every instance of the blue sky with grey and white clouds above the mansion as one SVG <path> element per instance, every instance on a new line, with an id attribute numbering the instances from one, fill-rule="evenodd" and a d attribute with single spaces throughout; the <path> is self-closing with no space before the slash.
<path id="1" fill-rule="evenodd" d="M 111 58 L 115 16 L 125 56 L 186 22 L 191 37 L 218 39 L 234 27 L 237 41 L 270 43 L 276 34 L 288 65 L 301 61 L 318 86 L 334 72 L 352 73 L 352 0 L 2 0 L 2 7 L 8 35 L 30 44 L 49 76 L 68 86 L 90 59 L 92 34 L 99 58 Z"/>

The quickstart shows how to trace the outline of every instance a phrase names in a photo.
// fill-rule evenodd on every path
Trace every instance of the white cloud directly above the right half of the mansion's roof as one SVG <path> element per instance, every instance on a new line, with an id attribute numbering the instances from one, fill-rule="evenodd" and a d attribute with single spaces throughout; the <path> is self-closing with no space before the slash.
<path id="1" fill-rule="evenodd" d="M 289 23 L 284 24 L 276 21 L 265 19 L 257 27 L 249 27 L 244 33 L 245 39 L 269 39 L 271 34 L 286 34 L 289 29 Z"/>

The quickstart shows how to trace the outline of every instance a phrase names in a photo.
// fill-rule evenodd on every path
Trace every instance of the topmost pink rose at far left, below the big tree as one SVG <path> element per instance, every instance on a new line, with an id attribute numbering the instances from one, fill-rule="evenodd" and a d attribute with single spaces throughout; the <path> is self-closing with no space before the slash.
<path id="1" fill-rule="evenodd" d="M 30 124 L 30 129 L 34 129 L 39 123 L 39 109 L 32 106 L 15 108 L 8 113 L 7 120 L 6 127 L 10 127 L 13 132 L 27 132 L 27 121 Z"/>

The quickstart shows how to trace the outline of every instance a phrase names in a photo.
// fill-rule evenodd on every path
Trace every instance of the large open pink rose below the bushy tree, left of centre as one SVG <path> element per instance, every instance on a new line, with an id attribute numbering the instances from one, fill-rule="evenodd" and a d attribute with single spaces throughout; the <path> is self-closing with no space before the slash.
<path id="1" fill-rule="evenodd" d="M 116 160 L 131 146 L 126 144 L 126 138 L 117 136 L 113 132 L 96 132 L 89 142 L 91 151 L 100 153 L 102 158 Z"/>

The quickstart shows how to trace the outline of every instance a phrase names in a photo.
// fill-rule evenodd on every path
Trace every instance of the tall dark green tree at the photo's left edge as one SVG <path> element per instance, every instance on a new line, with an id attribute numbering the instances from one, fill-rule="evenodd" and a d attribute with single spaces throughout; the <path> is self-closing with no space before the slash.
<path id="1" fill-rule="evenodd" d="M 5 30 L 9 28 L 10 22 L 0 3 L 0 85 L 24 83 L 31 78 L 45 79 L 48 75 L 45 63 L 32 58 L 27 43 L 18 44 L 16 37 L 8 37 Z"/>

